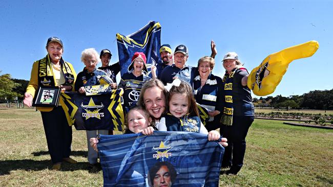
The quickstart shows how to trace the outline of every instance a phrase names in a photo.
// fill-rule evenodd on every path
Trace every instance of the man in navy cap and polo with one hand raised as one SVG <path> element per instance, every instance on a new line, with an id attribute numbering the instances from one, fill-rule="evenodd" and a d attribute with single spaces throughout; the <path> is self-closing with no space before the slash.
<path id="1" fill-rule="evenodd" d="M 217 54 L 215 43 L 211 42 L 211 57 L 215 57 Z M 192 86 L 193 79 L 198 75 L 198 68 L 185 65 L 189 58 L 189 51 L 185 45 L 178 45 L 174 53 L 174 64 L 166 66 L 162 73 L 159 75 L 159 79 L 166 85 L 166 83 L 172 83 L 174 79 L 181 79 Z"/>

